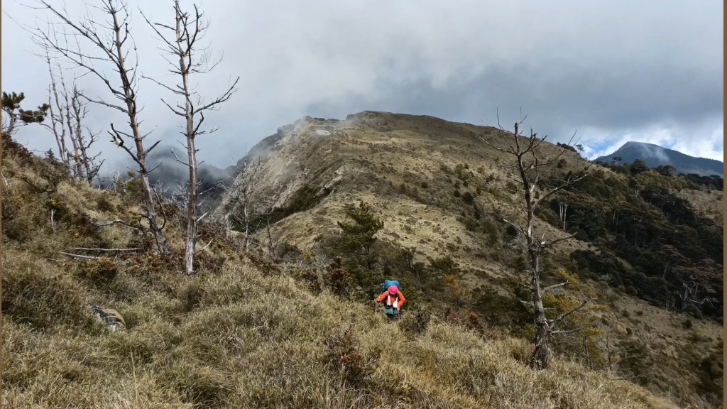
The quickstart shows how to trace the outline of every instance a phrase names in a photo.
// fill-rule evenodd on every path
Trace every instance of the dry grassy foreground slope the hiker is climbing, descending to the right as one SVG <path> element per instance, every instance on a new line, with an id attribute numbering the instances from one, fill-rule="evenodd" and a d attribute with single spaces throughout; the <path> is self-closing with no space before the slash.
<path id="1" fill-rule="evenodd" d="M 193 279 L 156 255 L 65 260 L 58 252 L 73 247 L 140 245 L 123 226 L 89 225 L 133 220 L 131 198 L 68 181 L 40 193 L 28 182 L 42 190 L 52 167 L 4 145 L 7 408 L 674 407 L 570 362 L 530 370 L 523 341 L 437 319 L 389 324 L 369 306 L 313 295 L 209 227 L 215 242 Z M 179 255 L 183 230 L 170 218 Z M 91 302 L 118 309 L 128 330 L 111 333 Z"/>

